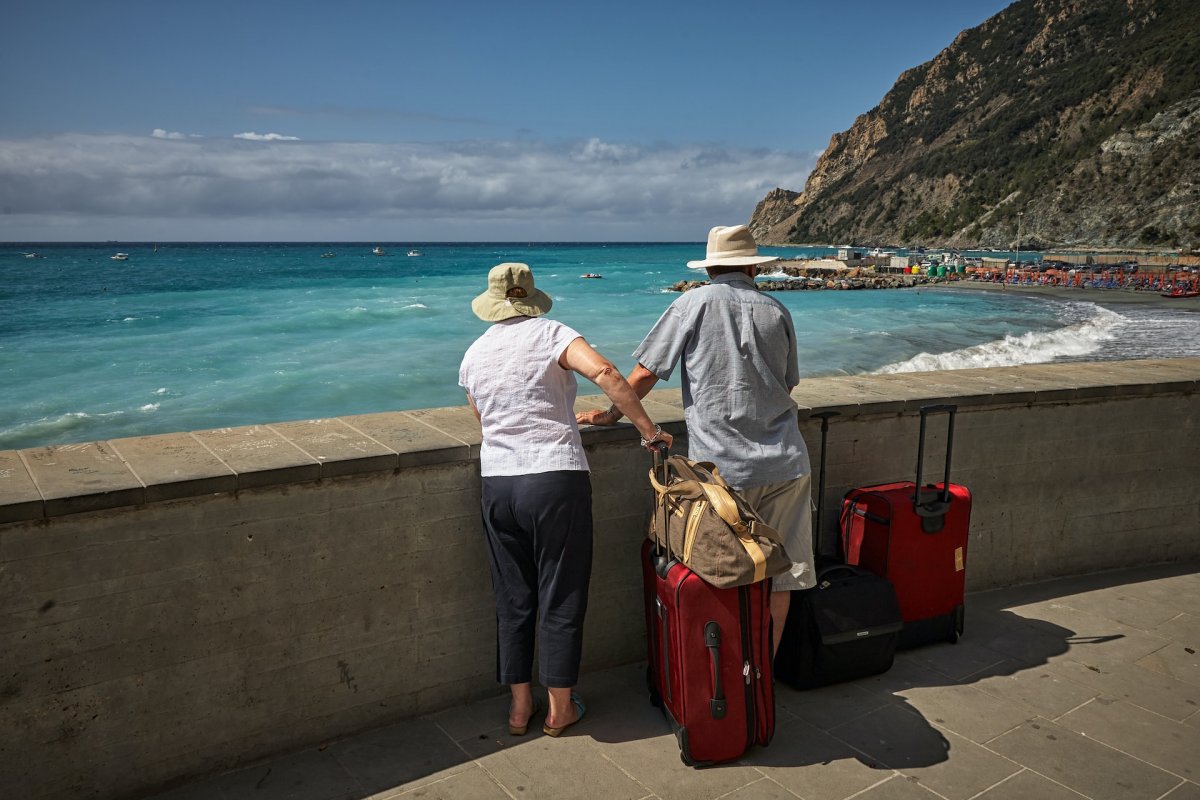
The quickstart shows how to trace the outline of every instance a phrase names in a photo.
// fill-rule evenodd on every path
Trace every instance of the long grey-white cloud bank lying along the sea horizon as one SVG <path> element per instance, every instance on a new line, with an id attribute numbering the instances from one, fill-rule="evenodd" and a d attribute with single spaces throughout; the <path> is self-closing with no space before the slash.
<path id="1" fill-rule="evenodd" d="M 748 219 L 776 186 L 802 188 L 812 164 L 599 139 L 0 139 L 0 239 L 691 240 Z"/>

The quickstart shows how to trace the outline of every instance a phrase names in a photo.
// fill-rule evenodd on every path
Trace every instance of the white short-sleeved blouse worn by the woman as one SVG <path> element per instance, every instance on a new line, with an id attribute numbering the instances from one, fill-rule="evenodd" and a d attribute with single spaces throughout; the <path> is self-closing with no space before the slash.
<path id="1" fill-rule="evenodd" d="M 575 423 L 575 373 L 558 363 L 577 338 L 553 319 L 515 317 L 467 348 L 458 385 L 484 425 L 484 477 L 588 469 Z"/>

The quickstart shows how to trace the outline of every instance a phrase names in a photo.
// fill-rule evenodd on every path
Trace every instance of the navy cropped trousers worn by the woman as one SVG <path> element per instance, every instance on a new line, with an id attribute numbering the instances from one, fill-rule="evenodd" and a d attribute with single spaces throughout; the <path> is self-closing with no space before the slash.
<path id="1" fill-rule="evenodd" d="M 580 678 L 592 578 L 592 480 L 559 470 L 484 477 L 484 528 L 496 591 L 496 678 L 527 684 L 534 638 L 542 686 Z"/>

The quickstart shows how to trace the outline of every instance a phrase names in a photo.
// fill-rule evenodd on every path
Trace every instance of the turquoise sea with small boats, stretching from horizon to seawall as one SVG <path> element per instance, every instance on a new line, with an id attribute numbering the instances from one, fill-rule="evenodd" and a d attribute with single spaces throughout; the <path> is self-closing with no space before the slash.
<path id="1" fill-rule="evenodd" d="M 374 245 L 0 245 L 0 449 L 462 404 L 458 362 L 485 329 L 469 302 L 506 260 L 533 266 L 551 315 L 628 374 L 677 296 L 668 287 L 697 277 L 685 261 L 704 251 L 382 242 L 373 255 Z M 804 375 L 1200 355 L 1200 314 L 1170 309 L 1000 291 L 775 296 L 792 311 Z"/>

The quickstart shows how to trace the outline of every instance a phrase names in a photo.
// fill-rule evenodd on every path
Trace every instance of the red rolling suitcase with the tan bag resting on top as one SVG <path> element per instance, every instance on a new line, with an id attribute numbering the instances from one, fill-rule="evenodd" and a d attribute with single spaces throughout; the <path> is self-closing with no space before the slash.
<path id="1" fill-rule="evenodd" d="M 642 546 L 650 702 L 685 764 L 732 760 L 775 733 L 770 581 L 718 589 L 668 548 Z"/>

